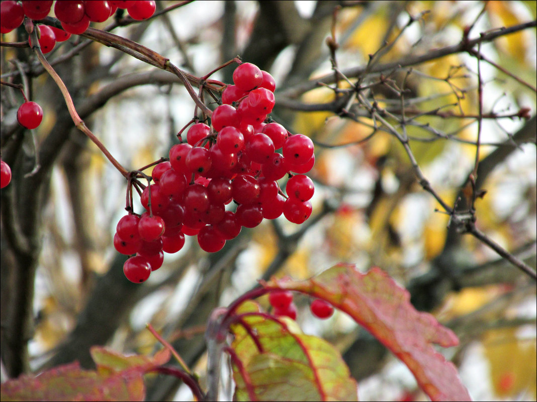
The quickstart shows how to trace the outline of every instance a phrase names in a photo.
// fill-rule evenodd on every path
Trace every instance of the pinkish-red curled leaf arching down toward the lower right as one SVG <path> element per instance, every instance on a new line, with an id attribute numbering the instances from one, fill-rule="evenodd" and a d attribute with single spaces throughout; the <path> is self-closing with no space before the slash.
<path id="1" fill-rule="evenodd" d="M 417 311 L 409 293 L 378 267 L 362 274 L 338 264 L 309 280 L 274 279 L 266 287 L 307 293 L 349 314 L 408 366 L 432 400 L 470 400 L 454 364 L 432 346 L 458 345 L 455 334 Z"/>

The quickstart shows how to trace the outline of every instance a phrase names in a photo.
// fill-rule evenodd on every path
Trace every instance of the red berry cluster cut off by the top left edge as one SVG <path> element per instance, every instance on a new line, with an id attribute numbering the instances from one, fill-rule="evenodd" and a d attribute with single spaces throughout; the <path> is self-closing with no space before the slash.
<path id="1" fill-rule="evenodd" d="M 33 20 L 40 20 L 48 16 L 52 9 L 53 0 L 32 0 L 17 2 L 14 0 L 3 1 L 1 8 L 0 32 L 8 33 L 23 23 L 24 17 Z M 55 34 L 55 41 L 63 41 L 69 38 L 70 34 L 81 34 L 90 26 L 90 22 L 103 23 L 114 12 L 119 9 L 126 9 L 129 16 L 135 20 L 147 19 L 155 13 L 156 4 L 154 0 L 130 0 L 130 1 L 82 1 L 82 0 L 62 0 L 54 4 L 54 14 L 62 24 L 61 29 L 52 28 Z M 49 35 L 46 30 L 45 35 Z M 68 35 L 66 35 L 68 33 Z M 43 29 L 41 28 L 41 34 Z M 67 37 L 66 37 L 67 36 Z M 50 39 L 48 39 L 50 41 Z M 41 43 L 41 41 L 40 41 Z M 54 42 L 55 43 L 55 42 Z M 54 47 L 54 44 L 53 44 Z M 52 50 L 52 49 L 50 49 Z M 46 53 L 46 52 L 43 52 Z"/>

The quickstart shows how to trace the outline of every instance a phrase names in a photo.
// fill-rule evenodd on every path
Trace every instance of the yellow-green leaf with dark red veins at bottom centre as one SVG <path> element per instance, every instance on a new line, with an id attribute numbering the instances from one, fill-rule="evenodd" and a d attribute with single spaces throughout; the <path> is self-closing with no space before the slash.
<path id="1" fill-rule="evenodd" d="M 358 400 L 357 384 L 332 345 L 251 305 L 237 311 L 230 328 L 235 400 Z"/>

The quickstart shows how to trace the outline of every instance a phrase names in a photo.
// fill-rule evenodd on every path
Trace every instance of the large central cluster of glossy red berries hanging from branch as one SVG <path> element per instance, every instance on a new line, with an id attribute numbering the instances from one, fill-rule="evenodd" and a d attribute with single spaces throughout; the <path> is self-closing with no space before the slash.
<path id="1" fill-rule="evenodd" d="M 309 218 L 314 185 L 303 173 L 315 162 L 313 142 L 290 135 L 281 124 L 265 123 L 275 103 L 269 73 L 243 63 L 233 80 L 211 126 L 193 124 L 186 142 L 172 146 L 169 161 L 153 169 L 155 183 L 141 194 L 146 212 L 138 217 L 131 211 L 119 221 L 115 248 L 137 253 L 124 266 L 129 280 L 147 280 L 162 265 L 163 251 L 179 251 L 185 235 L 197 235 L 201 249 L 216 252 L 242 227 L 263 219 L 283 213 L 301 224 Z M 278 184 L 285 175 L 287 195 Z M 226 210 L 232 201 L 238 204 L 235 212 Z"/>

